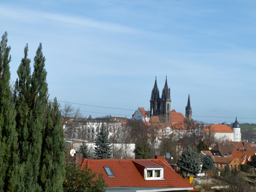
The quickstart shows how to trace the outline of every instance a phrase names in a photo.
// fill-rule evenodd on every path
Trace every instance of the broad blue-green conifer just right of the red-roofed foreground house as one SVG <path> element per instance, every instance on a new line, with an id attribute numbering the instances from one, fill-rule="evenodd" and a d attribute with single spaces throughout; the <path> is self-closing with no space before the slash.
<path id="1" fill-rule="evenodd" d="M 178 166 L 181 168 L 181 171 L 196 175 L 200 173 L 200 160 L 198 153 L 188 147 L 181 153 L 180 160 L 178 160 Z"/>

